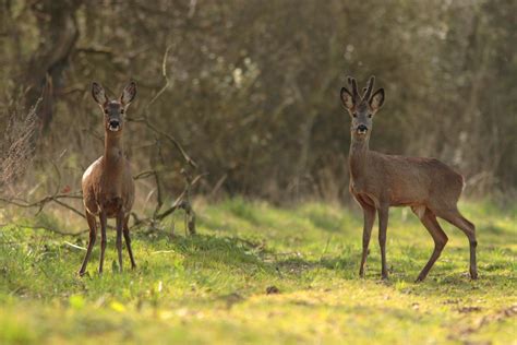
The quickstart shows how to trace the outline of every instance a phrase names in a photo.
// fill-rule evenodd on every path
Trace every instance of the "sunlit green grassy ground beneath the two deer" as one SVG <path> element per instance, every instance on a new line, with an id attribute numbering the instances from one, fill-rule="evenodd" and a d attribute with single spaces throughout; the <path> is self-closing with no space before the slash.
<path id="1" fill-rule="evenodd" d="M 477 282 L 467 238 L 442 222 L 449 242 L 428 279 L 413 283 L 433 241 L 402 209 L 390 211 L 388 282 L 380 281 L 376 229 L 366 277 L 358 277 L 358 209 L 199 201 L 200 235 L 183 236 L 180 217 L 176 237 L 173 219 L 163 231 L 135 230 L 139 267 L 116 273 L 109 231 L 105 274 L 96 274 L 96 246 L 82 278 L 86 235 L 7 226 L 0 343 L 517 344 L 517 209 L 460 209 L 478 228 Z"/>

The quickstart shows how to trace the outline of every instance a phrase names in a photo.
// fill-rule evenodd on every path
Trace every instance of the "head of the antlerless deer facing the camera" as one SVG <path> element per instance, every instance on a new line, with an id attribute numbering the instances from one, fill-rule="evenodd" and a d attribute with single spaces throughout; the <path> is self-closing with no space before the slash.
<path id="1" fill-rule="evenodd" d="M 118 100 L 110 100 L 106 96 L 104 87 L 100 84 L 94 82 L 92 84 L 92 96 L 100 106 L 100 109 L 103 109 L 105 130 L 107 133 L 122 132 L 124 124 L 124 112 L 136 96 L 136 84 L 134 82 L 129 83 L 122 91 L 122 94 Z"/>

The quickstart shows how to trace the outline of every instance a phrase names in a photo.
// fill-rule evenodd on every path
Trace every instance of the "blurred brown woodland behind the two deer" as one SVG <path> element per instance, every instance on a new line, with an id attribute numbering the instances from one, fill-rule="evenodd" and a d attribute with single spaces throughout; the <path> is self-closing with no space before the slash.
<path id="1" fill-rule="evenodd" d="M 470 195 L 515 195 L 515 13 L 512 0 L 0 0 L 1 192 L 79 190 L 103 152 L 91 82 L 119 96 L 134 80 L 128 116 L 160 132 L 130 122 L 125 148 L 167 198 L 185 169 L 212 198 L 348 202 L 339 90 L 375 74 L 371 148 L 438 157 Z M 153 180 L 137 188 L 156 198 Z"/>

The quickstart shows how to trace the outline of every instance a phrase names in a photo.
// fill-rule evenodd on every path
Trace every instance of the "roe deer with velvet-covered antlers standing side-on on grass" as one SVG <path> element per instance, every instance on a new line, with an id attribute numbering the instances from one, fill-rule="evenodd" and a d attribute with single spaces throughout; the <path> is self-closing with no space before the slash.
<path id="1" fill-rule="evenodd" d="M 386 267 L 388 209 L 410 206 L 434 240 L 434 251 L 417 282 L 425 278 L 448 240 L 436 216 L 452 223 L 467 235 L 470 242 L 470 277 L 478 278 L 476 228 L 459 213 L 456 205 L 465 185 L 462 176 L 434 158 L 386 155 L 369 150 L 373 116 L 384 103 L 383 88 L 372 94 L 374 80 L 374 76 L 370 78 L 362 97 L 352 78 L 348 78 L 352 92 L 342 87 L 340 93 L 342 105 L 351 116 L 351 143 L 348 157 L 350 193 L 361 205 L 364 214 L 359 275 L 364 276 L 364 263 L 375 211 L 378 213 L 382 277 L 385 279 L 388 276 Z"/>

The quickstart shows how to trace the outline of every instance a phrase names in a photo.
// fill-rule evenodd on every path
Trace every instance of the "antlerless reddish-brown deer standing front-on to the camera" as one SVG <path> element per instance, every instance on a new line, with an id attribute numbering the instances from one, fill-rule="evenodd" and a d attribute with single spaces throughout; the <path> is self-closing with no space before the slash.
<path id="1" fill-rule="evenodd" d="M 92 84 L 92 95 L 104 114 L 105 150 L 104 155 L 95 160 L 83 175 L 83 202 L 89 226 L 89 242 L 79 271 L 80 275 L 84 275 L 86 271 L 97 237 L 95 216 L 100 218 L 99 273 L 103 273 L 104 265 L 107 218 L 116 218 L 117 221 L 116 246 L 120 271 L 122 271 L 122 231 L 131 260 L 131 267 L 136 266 L 128 228 L 129 214 L 134 201 L 134 181 L 130 163 L 125 158 L 122 147 L 123 115 L 136 95 L 136 85 L 131 82 L 123 90 L 119 100 L 109 100 L 103 86 L 94 82 Z"/>

